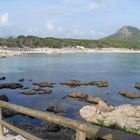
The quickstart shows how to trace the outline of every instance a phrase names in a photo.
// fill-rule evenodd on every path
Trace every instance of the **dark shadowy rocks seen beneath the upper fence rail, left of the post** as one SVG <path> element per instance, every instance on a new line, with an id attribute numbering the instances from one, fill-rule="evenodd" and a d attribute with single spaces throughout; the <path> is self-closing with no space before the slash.
<path id="1" fill-rule="evenodd" d="M 44 121 L 40 126 L 31 123 L 16 123 L 18 128 L 47 140 L 72 140 L 74 131 L 55 123 Z"/>

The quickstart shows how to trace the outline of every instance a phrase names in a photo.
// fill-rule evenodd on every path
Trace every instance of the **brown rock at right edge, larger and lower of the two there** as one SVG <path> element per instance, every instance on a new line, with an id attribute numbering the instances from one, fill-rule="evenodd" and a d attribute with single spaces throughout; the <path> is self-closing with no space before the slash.
<path id="1" fill-rule="evenodd" d="M 140 94 L 136 94 L 128 90 L 120 91 L 119 94 L 124 97 L 131 98 L 131 99 L 140 98 Z"/>

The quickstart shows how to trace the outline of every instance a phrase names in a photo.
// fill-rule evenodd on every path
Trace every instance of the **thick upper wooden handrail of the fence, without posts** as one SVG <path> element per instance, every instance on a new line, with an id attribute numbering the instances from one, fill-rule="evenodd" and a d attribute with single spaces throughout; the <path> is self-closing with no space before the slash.
<path id="1" fill-rule="evenodd" d="M 17 111 L 19 113 L 36 117 L 41 120 L 50 121 L 76 130 L 78 129 L 79 131 L 85 132 L 86 136 L 92 139 L 94 139 L 95 137 L 101 137 L 107 140 L 112 140 L 112 139 L 113 140 L 128 140 L 128 139 L 140 140 L 140 136 L 138 135 L 134 135 L 134 134 L 126 133 L 124 131 L 114 130 L 102 126 L 93 125 L 78 120 L 65 118 L 47 112 L 29 109 L 20 105 L 11 104 L 4 101 L 0 101 L 0 107 Z"/>

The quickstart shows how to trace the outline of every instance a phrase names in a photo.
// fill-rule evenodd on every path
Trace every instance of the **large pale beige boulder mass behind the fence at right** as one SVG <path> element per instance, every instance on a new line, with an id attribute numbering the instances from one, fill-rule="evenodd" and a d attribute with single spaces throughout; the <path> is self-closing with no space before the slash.
<path id="1" fill-rule="evenodd" d="M 80 115 L 86 121 L 107 127 L 119 127 L 125 130 L 140 131 L 140 106 L 120 105 L 109 107 L 112 110 L 102 112 L 97 106 L 84 106 L 80 109 Z M 133 132 L 134 132 L 133 131 Z"/>

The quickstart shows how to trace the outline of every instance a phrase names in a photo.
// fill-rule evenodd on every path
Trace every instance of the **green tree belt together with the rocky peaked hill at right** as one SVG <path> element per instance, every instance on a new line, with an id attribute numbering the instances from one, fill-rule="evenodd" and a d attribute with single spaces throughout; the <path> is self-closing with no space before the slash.
<path id="1" fill-rule="evenodd" d="M 53 37 L 37 37 L 37 36 L 23 36 L 16 38 L 9 37 L 7 39 L 0 38 L 0 46 L 8 47 L 75 47 L 84 46 L 86 48 L 133 48 L 140 49 L 140 30 L 132 26 L 124 26 L 115 34 L 100 40 L 86 40 L 86 39 L 60 39 Z"/>

